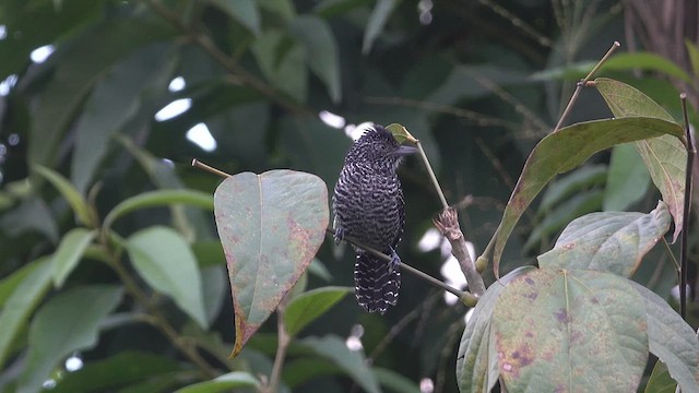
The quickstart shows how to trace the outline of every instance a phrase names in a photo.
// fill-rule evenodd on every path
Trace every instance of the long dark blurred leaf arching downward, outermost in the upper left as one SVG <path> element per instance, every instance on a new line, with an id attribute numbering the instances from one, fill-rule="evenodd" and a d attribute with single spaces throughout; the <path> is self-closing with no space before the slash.
<path id="1" fill-rule="evenodd" d="M 145 17 L 112 17 L 61 46 L 54 78 L 32 112 L 28 162 L 51 166 L 72 117 L 106 70 L 132 50 L 174 36 L 170 24 Z"/>

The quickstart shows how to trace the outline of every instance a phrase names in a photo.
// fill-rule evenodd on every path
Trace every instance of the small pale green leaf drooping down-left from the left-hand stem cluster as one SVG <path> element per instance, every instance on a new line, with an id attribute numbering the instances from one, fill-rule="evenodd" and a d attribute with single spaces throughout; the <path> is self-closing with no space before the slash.
<path id="1" fill-rule="evenodd" d="M 54 285 L 57 288 L 63 286 L 66 278 L 75 269 L 87 246 L 96 236 L 95 230 L 85 228 L 73 228 L 63 236 L 51 261 Z"/>

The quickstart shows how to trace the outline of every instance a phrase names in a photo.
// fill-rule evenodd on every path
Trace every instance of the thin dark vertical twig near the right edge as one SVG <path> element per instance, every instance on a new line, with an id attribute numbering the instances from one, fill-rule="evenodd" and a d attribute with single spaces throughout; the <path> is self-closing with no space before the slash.
<path id="1" fill-rule="evenodd" d="M 695 160 L 694 141 L 691 140 L 691 131 L 689 130 L 689 118 L 687 115 L 687 94 L 679 95 L 682 102 L 682 111 L 685 118 L 685 135 L 687 138 L 687 167 L 685 172 L 685 203 L 683 210 L 683 228 L 679 243 L 679 314 L 683 319 L 687 318 L 687 236 L 689 233 L 689 209 L 691 206 L 691 169 Z"/>

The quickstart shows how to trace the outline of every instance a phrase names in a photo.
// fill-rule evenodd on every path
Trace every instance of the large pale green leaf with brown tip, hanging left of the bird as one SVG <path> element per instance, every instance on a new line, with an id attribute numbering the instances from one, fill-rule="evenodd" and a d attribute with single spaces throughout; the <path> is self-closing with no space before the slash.
<path id="1" fill-rule="evenodd" d="M 328 228 L 328 190 L 315 175 L 272 170 L 225 179 L 214 193 L 228 262 L 237 355 L 296 284 Z"/>

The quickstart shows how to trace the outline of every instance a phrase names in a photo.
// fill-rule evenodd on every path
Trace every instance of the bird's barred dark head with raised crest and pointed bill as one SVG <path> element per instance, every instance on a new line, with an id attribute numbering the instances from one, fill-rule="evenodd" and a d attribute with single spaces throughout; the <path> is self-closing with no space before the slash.
<path id="1" fill-rule="evenodd" d="M 376 169 L 395 168 L 401 159 L 417 152 L 412 146 L 400 145 L 393 135 L 379 124 L 374 124 L 347 153 L 345 164 L 357 164 Z"/>

